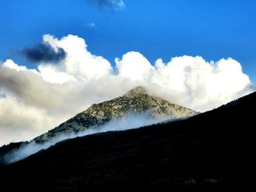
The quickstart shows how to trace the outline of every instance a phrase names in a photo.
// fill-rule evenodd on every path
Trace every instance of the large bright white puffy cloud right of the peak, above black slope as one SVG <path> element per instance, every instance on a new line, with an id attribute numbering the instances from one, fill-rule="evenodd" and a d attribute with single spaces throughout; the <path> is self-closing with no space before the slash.
<path id="1" fill-rule="evenodd" d="M 199 56 L 185 55 L 167 64 L 158 60 L 156 68 L 153 82 L 168 88 L 176 102 L 199 111 L 211 110 L 251 91 L 249 77 L 232 58 L 208 63 Z"/>

